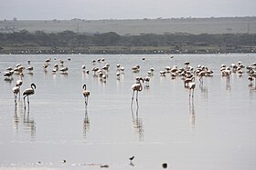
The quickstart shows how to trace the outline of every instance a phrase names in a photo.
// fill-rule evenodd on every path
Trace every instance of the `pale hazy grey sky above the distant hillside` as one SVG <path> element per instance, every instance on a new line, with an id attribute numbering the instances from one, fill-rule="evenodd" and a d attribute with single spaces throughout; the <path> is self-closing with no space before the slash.
<path id="1" fill-rule="evenodd" d="M 256 0 L 0 0 L 0 19 L 142 19 L 256 15 Z"/>

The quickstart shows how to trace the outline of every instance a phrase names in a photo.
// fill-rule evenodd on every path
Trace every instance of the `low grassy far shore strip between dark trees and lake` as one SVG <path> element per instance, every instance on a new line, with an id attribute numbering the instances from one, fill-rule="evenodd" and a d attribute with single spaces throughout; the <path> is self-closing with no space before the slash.
<path id="1" fill-rule="evenodd" d="M 204 47 L 204 48 L 203 48 Z M 225 46 L 219 49 L 219 46 L 189 46 L 189 51 L 170 50 L 170 46 L 91 46 L 75 47 L 70 50 L 69 47 L 59 47 L 59 50 L 52 50 L 51 46 L 37 48 L 35 46 L 5 47 L 0 51 L 0 55 L 176 55 L 176 54 L 249 54 L 256 53 L 255 47 L 244 46 L 240 51 L 232 50 Z"/>

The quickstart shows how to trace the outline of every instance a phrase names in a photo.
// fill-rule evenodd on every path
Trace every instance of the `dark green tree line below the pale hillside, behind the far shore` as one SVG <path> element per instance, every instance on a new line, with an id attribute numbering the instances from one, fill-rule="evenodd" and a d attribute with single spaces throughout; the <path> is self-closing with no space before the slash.
<path id="1" fill-rule="evenodd" d="M 22 30 L 14 33 L 0 33 L 0 51 L 5 46 L 49 46 L 49 47 L 76 47 L 76 46 L 173 46 L 179 50 L 181 46 L 227 46 L 237 50 L 240 46 L 250 46 L 248 51 L 255 51 L 256 34 L 142 34 L 118 35 L 114 32 L 103 34 L 79 34 L 72 31 L 60 33 L 35 33 Z M 238 51 L 238 50 L 237 50 Z"/>

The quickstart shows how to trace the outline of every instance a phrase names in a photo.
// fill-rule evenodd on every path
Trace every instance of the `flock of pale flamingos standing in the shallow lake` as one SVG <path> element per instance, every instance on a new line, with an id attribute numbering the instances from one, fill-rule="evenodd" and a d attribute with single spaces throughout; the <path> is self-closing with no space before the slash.
<path id="1" fill-rule="evenodd" d="M 56 61 L 57 59 L 54 58 L 54 60 Z M 70 58 L 68 58 L 68 60 L 70 60 Z M 142 60 L 145 60 L 145 58 L 143 57 Z M 45 61 L 45 63 L 42 65 L 42 69 L 44 69 L 44 70 L 49 69 L 49 65 L 50 65 L 51 61 L 52 61 L 52 59 L 48 58 Z M 103 63 L 103 62 L 105 62 L 105 59 L 100 58 L 100 59 L 91 61 L 91 63 L 93 65 L 95 65 L 97 62 Z M 21 93 L 20 88 L 21 88 L 21 85 L 23 85 L 23 78 L 22 78 L 24 76 L 23 73 L 25 72 L 25 70 L 27 70 L 27 72 L 31 73 L 31 72 L 33 72 L 33 69 L 34 69 L 33 66 L 30 65 L 30 60 L 27 60 L 27 64 L 29 65 L 27 68 L 21 64 L 17 64 L 15 67 L 10 66 L 10 67 L 6 68 L 5 73 L 4 73 L 6 81 L 13 80 L 12 76 L 14 74 L 19 75 L 19 77 L 20 77 L 20 79 L 16 80 L 16 85 L 12 88 L 12 91 L 15 96 L 15 104 L 16 104 L 17 95 L 20 95 L 20 93 Z M 196 76 L 198 77 L 199 84 L 203 84 L 204 77 L 212 76 L 213 71 L 205 65 L 197 65 L 197 67 L 195 67 L 195 68 L 192 67 L 191 65 L 189 65 L 189 62 L 185 62 L 184 65 L 185 65 L 184 67 L 180 67 L 180 68 L 177 65 L 173 65 L 172 67 L 165 66 L 165 68 L 162 71 L 160 71 L 159 75 L 160 76 L 169 75 L 172 79 L 176 78 L 176 76 L 180 76 L 184 80 L 184 86 L 189 89 L 189 99 L 190 98 L 193 99 L 194 89 L 196 87 L 195 77 Z M 67 74 L 68 70 L 69 70 L 69 68 L 67 66 L 65 66 L 65 62 L 63 60 L 59 60 L 58 64 L 55 64 L 52 67 L 53 74 L 56 74 L 56 72 L 61 72 L 63 74 Z M 90 73 L 90 70 L 87 70 L 85 65 L 81 65 L 81 70 L 86 74 Z M 93 72 L 93 75 L 99 76 L 101 78 L 101 80 L 104 81 L 107 78 L 106 73 L 109 70 L 110 70 L 110 65 L 106 63 L 102 67 L 94 66 L 91 69 L 91 72 Z M 134 65 L 131 68 L 131 71 L 134 73 L 139 72 L 139 70 L 140 70 L 140 65 Z M 124 67 L 121 66 L 120 64 L 117 64 L 116 65 L 117 78 L 120 76 L 120 74 L 122 72 L 124 72 Z M 133 92 L 131 107 L 133 107 L 134 95 L 135 95 L 136 103 L 138 105 L 138 94 L 139 94 L 139 92 L 141 92 L 143 90 L 144 83 L 145 83 L 145 86 L 149 86 L 150 77 L 153 75 L 154 72 L 155 72 L 155 68 L 151 67 L 149 69 L 149 71 L 147 72 L 146 77 L 137 76 L 135 78 L 135 84 L 133 84 L 131 87 L 132 92 Z M 238 62 L 237 64 L 220 65 L 219 72 L 222 76 L 227 77 L 228 84 L 229 84 L 229 76 L 232 73 L 236 73 L 238 75 L 243 75 L 243 74 L 245 74 L 245 72 L 247 72 L 249 85 L 252 86 L 253 81 L 254 81 L 254 84 L 256 86 L 256 63 L 252 63 L 251 65 L 243 65 L 241 62 Z M 32 83 L 29 88 L 25 89 L 22 92 L 25 109 L 26 109 L 26 98 L 27 98 L 27 107 L 29 110 L 29 96 L 34 95 L 35 90 L 36 90 L 36 85 L 34 83 Z M 90 91 L 87 89 L 87 85 L 82 86 L 82 95 L 84 96 L 85 105 L 87 106 L 89 96 L 91 95 Z"/>

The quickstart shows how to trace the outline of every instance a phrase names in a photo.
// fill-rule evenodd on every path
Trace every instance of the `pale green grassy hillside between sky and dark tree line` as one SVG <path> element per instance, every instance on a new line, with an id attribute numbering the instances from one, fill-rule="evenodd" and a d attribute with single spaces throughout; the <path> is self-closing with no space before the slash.
<path id="1" fill-rule="evenodd" d="M 0 21 L 0 33 L 12 33 L 27 30 L 58 33 L 73 31 L 75 33 L 107 33 L 118 35 L 143 34 L 255 34 L 256 16 L 247 17 L 211 17 L 211 18 L 169 18 L 136 20 L 5 20 Z"/>

